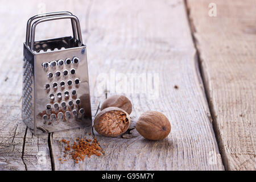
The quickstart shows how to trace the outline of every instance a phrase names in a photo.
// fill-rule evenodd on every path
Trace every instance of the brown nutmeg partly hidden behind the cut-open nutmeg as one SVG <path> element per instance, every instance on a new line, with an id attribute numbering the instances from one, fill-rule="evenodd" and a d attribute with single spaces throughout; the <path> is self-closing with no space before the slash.
<path id="1" fill-rule="evenodd" d="M 119 107 L 125 110 L 128 114 L 131 114 L 132 105 L 129 98 L 125 96 L 110 96 L 101 105 L 101 110 L 107 107 Z"/>

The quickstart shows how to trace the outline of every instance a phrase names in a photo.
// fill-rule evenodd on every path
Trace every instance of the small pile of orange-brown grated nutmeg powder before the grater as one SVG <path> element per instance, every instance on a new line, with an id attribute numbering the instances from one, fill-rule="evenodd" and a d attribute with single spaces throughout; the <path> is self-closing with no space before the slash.
<path id="1" fill-rule="evenodd" d="M 70 142 L 62 139 L 59 141 L 60 143 L 63 142 L 65 144 L 65 150 L 63 157 L 66 158 L 67 155 L 70 155 L 73 160 L 75 160 L 75 163 L 79 163 L 79 161 L 84 161 L 84 158 L 87 156 L 90 158 L 92 155 L 100 156 L 104 152 L 102 151 L 102 148 L 98 145 L 96 138 L 92 139 L 86 139 L 84 138 L 77 138 L 76 142 L 73 144 L 69 144 Z M 67 159 L 64 159 L 62 161 L 61 158 L 59 158 L 61 161 L 61 164 L 63 164 L 63 161 L 66 162 Z"/>

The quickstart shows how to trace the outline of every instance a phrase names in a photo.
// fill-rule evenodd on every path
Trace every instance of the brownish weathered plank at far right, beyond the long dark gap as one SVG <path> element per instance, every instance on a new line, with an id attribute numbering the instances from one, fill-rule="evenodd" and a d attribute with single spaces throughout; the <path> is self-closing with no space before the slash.
<path id="1" fill-rule="evenodd" d="M 255 1 L 188 0 L 189 18 L 222 159 L 229 170 L 256 169 Z"/>

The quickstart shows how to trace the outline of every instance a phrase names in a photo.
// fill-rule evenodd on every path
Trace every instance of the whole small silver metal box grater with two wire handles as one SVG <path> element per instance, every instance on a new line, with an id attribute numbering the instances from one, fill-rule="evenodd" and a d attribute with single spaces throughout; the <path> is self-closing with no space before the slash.
<path id="1" fill-rule="evenodd" d="M 73 37 L 35 42 L 36 26 L 57 19 L 71 19 Z M 61 11 L 28 19 L 22 98 L 23 122 L 35 135 L 92 126 L 86 46 L 76 16 Z"/>

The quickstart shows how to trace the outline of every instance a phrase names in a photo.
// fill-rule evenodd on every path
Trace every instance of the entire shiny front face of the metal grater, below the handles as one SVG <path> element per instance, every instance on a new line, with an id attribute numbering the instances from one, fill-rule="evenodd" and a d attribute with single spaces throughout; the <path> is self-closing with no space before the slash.
<path id="1" fill-rule="evenodd" d="M 36 53 L 36 127 L 59 131 L 88 123 L 91 115 L 85 48 Z"/>

